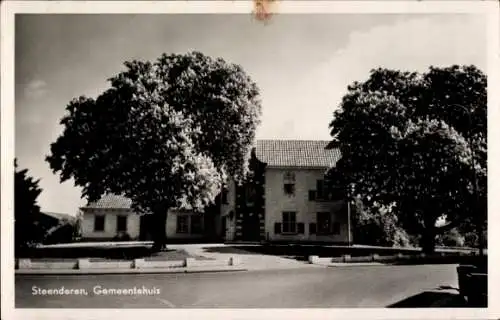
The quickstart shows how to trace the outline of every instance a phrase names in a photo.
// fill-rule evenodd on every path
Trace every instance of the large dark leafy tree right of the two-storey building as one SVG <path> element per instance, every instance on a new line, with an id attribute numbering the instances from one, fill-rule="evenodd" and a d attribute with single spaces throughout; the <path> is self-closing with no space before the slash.
<path id="1" fill-rule="evenodd" d="M 328 175 L 365 206 L 390 207 L 433 252 L 437 234 L 486 221 L 486 112 L 486 76 L 474 66 L 372 70 L 334 113 L 330 146 L 342 158 Z"/>

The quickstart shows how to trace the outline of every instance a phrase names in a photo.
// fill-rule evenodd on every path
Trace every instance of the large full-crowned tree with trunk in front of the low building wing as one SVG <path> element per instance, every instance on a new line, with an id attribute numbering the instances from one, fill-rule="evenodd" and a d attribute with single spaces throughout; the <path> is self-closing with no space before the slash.
<path id="1" fill-rule="evenodd" d="M 97 99 L 69 103 L 47 161 L 89 201 L 119 194 L 152 213 L 159 249 L 168 209 L 201 212 L 228 177 L 244 176 L 259 91 L 240 66 L 199 52 L 125 67 Z"/>

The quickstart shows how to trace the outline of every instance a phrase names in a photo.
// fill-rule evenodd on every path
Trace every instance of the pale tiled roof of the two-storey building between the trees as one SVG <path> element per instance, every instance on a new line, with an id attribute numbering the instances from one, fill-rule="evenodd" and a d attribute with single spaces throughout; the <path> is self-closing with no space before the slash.
<path id="1" fill-rule="evenodd" d="M 257 140 L 257 158 L 269 167 L 333 167 L 340 159 L 338 149 L 326 149 L 326 140 Z"/>

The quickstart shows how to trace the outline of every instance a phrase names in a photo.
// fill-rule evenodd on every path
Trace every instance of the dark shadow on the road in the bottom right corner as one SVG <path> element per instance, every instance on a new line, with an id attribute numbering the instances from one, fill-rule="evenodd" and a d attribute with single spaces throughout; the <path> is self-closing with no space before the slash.
<path id="1" fill-rule="evenodd" d="M 458 293 L 424 291 L 398 301 L 388 308 L 467 308 Z"/>

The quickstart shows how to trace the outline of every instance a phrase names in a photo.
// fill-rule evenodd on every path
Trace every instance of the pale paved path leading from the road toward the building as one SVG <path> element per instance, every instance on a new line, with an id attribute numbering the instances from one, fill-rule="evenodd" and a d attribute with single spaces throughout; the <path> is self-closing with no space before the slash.
<path id="1" fill-rule="evenodd" d="M 241 250 L 225 244 L 182 244 L 168 245 L 171 249 L 184 250 L 193 256 L 203 256 L 211 259 L 228 259 L 235 257 L 241 266 L 247 270 L 272 270 L 272 269 L 297 269 L 318 268 L 319 265 L 309 264 L 308 261 L 298 261 L 293 258 L 285 258 L 274 255 L 256 254 Z M 215 248 L 219 249 L 214 252 Z"/>

